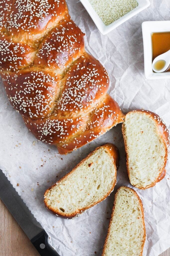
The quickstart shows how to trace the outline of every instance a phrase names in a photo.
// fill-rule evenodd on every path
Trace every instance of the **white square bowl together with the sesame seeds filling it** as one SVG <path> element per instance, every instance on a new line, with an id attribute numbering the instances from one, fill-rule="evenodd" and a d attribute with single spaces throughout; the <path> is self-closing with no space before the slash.
<path id="1" fill-rule="evenodd" d="M 149 0 L 80 0 L 105 35 L 150 5 Z"/>

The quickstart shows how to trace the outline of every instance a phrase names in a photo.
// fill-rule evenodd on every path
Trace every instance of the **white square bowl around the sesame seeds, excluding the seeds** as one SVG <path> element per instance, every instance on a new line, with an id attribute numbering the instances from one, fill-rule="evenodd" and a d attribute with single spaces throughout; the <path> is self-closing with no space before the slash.
<path id="1" fill-rule="evenodd" d="M 114 28 L 118 27 L 120 24 L 124 23 L 126 20 L 130 19 L 131 17 L 133 17 L 137 13 L 141 12 L 142 10 L 144 10 L 145 8 L 147 8 L 150 5 L 149 0 L 137 0 L 138 6 L 135 9 L 131 10 L 130 12 L 125 14 L 123 17 L 115 20 L 113 23 L 106 26 L 102 22 L 99 15 L 95 12 L 95 10 L 93 9 L 92 5 L 90 4 L 90 2 L 88 0 L 80 0 L 80 2 L 86 8 L 87 12 L 89 13 L 92 20 L 94 21 L 96 27 L 99 29 L 100 33 L 103 35 L 107 34 Z"/>

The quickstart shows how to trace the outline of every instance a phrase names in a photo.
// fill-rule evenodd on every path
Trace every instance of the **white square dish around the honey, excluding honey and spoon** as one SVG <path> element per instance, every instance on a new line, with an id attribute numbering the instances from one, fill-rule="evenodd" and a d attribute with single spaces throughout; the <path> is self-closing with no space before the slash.
<path id="1" fill-rule="evenodd" d="M 170 72 L 155 73 L 152 69 L 152 33 L 170 32 L 170 21 L 145 21 L 142 23 L 144 72 L 146 79 L 170 78 Z"/>

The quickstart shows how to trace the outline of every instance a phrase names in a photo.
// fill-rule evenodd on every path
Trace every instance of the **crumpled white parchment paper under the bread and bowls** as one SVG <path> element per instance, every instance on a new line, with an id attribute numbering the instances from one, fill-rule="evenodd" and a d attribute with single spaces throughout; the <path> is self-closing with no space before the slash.
<path id="1" fill-rule="evenodd" d="M 169 0 L 151 0 L 151 6 L 103 36 L 78 0 L 68 0 L 72 19 L 86 33 L 86 49 L 107 69 L 110 95 L 124 112 L 148 109 L 170 126 L 170 81 L 144 78 L 141 24 L 146 20 L 168 20 Z M 169 29 L 170 30 L 170 29 Z M 92 143 L 69 155 L 59 155 L 54 146 L 35 140 L 21 116 L 8 102 L 0 85 L 0 168 L 49 235 L 60 256 L 101 255 L 107 233 L 114 194 L 121 185 L 130 186 L 121 124 Z M 91 150 L 102 143 L 115 143 L 120 151 L 120 167 L 114 192 L 105 201 L 80 217 L 64 220 L 43 204 L 44 191 L 68 173 Z M 170 164 L 165 178 L 155 187 L 136 189 L 145 208 L 147 239 L 144 256 L 157 256 L 170 247 Z M 17 186 L 17 183 L 19 186 Z"/>

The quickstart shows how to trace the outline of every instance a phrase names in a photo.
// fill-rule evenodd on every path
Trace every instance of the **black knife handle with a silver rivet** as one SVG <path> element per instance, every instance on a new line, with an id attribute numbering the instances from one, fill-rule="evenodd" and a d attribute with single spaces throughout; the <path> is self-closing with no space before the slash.
<path id="1" fill-rule="evenodd" d="M 59 256 L 59 254 L 48 244 L 48 235 L 45 230 L 33 237 L 31 242 L 41 256 Z"/>

